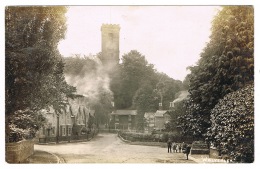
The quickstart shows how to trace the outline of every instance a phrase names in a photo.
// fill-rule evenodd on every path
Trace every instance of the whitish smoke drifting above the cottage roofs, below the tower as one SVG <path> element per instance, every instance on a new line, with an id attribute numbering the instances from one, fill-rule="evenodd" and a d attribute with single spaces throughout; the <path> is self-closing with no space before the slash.
<path id="1" fill-rule="evenodd" d="M 110 90 L 110 78 L 105 67 L 97 57 L 91 58 L 90 60 L 95 65 L 87 64 L 82 67 L 74 67 L 74 69 L 77 69 L 77 72 L 72 73 L 68 71 L 65 73 L 65 80 L 69 85 L 77 88 L 77 94 L 87 97 L 91 102 L 98 102 L 100 94 L 109 93 L 112 95 Z"/>

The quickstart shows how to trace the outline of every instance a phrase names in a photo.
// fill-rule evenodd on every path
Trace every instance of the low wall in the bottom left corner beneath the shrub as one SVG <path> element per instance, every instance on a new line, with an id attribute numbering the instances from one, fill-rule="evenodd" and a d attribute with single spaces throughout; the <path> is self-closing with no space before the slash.
<path id="1" fill-rule="evenodd" d="M 22 140 L 17 143 L 5 144 L 5 160 L 7 163 L 20 163 L 34 152 L 34 142 Z"/>

